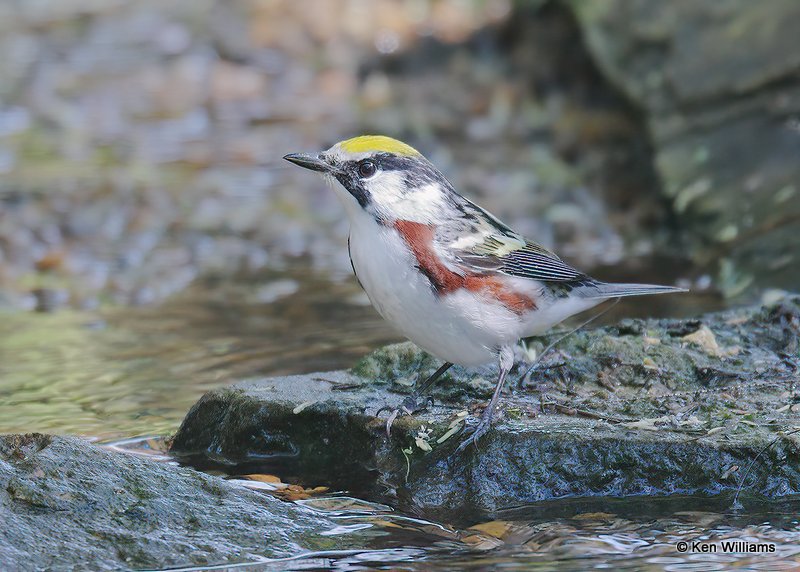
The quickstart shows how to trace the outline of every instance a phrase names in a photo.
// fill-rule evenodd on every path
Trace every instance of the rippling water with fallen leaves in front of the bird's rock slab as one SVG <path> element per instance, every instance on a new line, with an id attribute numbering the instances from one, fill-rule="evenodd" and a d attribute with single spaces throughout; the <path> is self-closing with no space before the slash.
<path id="1" fill-rule="evenodd" d="M 106 446 L 170 460 L 157 439 Z M 235 469 L 230 475 L 237 483 L 273 494 L 271 485 L 237 478 Z M 800 497 L 775 501 L 744 493 L 744 509 L 738 511 L 731 509 L 730 492 L 715 497 L 558 499 L 477 521 L 446 523 L 351 496 L 359 494 L 326 492 L 293 502 L 332 517 L 338 524 L 327 534 L 350 536 L 356 545 L 366 542 L 363 550 L 202 569 L 800 569 Z"/>

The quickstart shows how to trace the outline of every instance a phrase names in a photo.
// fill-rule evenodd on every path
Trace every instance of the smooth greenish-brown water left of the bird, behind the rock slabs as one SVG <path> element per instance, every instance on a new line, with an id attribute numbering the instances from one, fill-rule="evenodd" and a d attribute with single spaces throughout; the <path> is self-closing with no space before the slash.
<path id="1" fill-rule="evenodd" d="M 206 391 L 349 367 L 397 337 L 349 279 L 205 281 L 157 308 L 0 318 L 0 432 L 171 433 Z"/>

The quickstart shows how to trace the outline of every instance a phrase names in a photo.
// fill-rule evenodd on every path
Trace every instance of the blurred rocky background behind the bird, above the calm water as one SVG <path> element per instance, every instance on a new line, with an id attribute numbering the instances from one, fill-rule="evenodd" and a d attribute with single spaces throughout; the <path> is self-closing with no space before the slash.
<path id="1" fill-rule="evenodd" d="M 798 29 L 793 0 L 3 2 L 0 307 L 349 280 L 280 157 L 368 132 L 602 278 L 796 290 Z"/>

